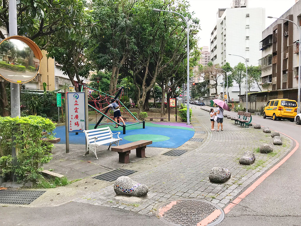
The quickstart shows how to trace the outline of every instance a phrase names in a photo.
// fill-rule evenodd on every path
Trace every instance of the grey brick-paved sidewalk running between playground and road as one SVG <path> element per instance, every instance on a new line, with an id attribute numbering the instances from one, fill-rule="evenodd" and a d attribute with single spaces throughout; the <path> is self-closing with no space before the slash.
<path id="1" fill-rule="evenodd" d="M 212 132 L 209 113 L 201 109 L 193 109 L 192 124 L 196 130 L 194 138 L 204 138 L 203 142 L 188 141 L 177 148 L 185 150 L 185 146 L 189 146 L 185 154 L 150 171 L 138 171 L 130 175 L 138 183 L 149 186 L 150 191 L 146 197 L 116 196 L 112 183 L 104 189 L 76 199 L 75 202 L 112 206 L 144 215 L 155 215 L 161 203 L 179 198 L 206 199 L 223 208 L 252 181 L 282 159 L 293 146 L 291 140 L 281 136 L 283 145 L 273 146 L 274 152 L 256 152 L 256 148 L 262 143 L 272 144 L 269 133 L 263 133 L 262 129 L 242 128 L 227 118 L 224 118 L 224 131 Z M 250 166 L 240 165 L 238 159 L 247 150 L 255 152 L 256 161 Z M 209 171 L 215 166 L 230 170 L 231 178 L 224 184 L 209 181 Z"/>

